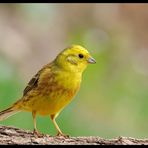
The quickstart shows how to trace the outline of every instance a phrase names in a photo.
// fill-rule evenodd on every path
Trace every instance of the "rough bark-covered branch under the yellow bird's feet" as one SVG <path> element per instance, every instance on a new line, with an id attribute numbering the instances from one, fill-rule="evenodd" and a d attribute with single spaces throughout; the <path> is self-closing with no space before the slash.
<path id="1" fill-rule="evenodd" d="M 0 144 L 17 145 L 148 145 L 148 139 L 118 137 L 103 139 L 99 137 L 52 137 L 45 135 L 36 138 L 33 132 L 15 127 L 0 126 Z"/>

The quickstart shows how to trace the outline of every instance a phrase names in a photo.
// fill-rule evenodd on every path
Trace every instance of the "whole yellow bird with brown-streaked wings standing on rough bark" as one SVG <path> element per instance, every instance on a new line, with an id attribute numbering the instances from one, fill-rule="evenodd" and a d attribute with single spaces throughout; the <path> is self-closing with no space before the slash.
<path id="1" fill-rule="evenodd" d="M 64 135 L 55 118 L 79 90 L 82 73 L 88 63 L 96 62 L 84 47 L 72 45 L 64 49 L 29 81 L 20 100 L 0 112 L 0 121 L 19 111 L 32 112 L 34 133 L 39 136 L 36 114 L 49 115 L 58 135 Z"/>

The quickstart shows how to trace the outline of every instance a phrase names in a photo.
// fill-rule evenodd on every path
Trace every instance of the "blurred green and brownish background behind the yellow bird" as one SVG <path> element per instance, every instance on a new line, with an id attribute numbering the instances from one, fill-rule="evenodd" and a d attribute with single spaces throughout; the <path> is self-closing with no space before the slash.
<path id="1" fill-rule="evenodd" d="M 71 136 L 148 137 L 148 4 L 0 4 L 0 110 L 21 98 L 29 79 L 70 44 L 97 64 L 57 118 Z M 1 125 L 33 129 L 31 113 Z M 55 135 L 49 117 L 38 129 Z"/>

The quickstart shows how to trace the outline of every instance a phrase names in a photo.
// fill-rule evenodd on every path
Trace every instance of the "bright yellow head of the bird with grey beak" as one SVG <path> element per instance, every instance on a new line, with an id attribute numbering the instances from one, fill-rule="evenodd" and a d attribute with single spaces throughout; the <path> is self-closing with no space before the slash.
<path id="1" fill-rule="evenodd" d="M 89 52 L 80 45 L 64 49 L 55 59 L 60 68 L 69 72 L 83 72 L 89 63 L 96 63 Z"/>

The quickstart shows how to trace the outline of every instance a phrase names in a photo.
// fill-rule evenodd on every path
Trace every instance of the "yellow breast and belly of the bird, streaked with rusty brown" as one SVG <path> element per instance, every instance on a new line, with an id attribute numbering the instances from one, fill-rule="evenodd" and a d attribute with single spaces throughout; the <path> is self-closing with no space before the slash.
<path id="1" fill-rule="evenodd" d="M 81 78 L 79 76 L 71 77 L 68 74 L 56 76 L 54 85 L 46 91 L 44 110 L 40 113 L 56 114 L 60 112 L 74 98 L 79 90 L 80 82 Z"/>

